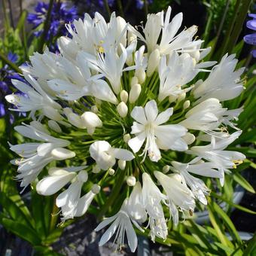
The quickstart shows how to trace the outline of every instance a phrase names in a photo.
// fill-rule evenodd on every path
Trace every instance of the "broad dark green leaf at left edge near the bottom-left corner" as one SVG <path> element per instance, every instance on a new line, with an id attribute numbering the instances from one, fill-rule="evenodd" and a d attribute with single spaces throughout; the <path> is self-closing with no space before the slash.
<path id="1" fill-rule="evenodd" d="M 38 237 L 35 230 L 28 227 L 28 225 L 8 218 L 2 218 L 2 224 L 7 230 L 10 230 L 12 233 L 20 236 L 21 238 L 30 242 L 32 245 L 40 245 L 41 239 Z"/>

